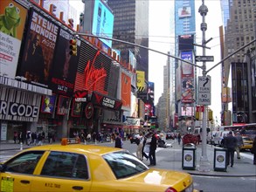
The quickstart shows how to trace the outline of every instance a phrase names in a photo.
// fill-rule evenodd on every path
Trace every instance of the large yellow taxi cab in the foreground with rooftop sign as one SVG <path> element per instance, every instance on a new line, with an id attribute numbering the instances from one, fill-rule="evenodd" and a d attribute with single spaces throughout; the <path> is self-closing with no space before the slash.
<path id="1" fill-rule="evenodd" d="M 31 147 L 1 163 L 1 191 L 197 191 L 187 173 L 148 168 L 126 149 L 78 142 Z"/>

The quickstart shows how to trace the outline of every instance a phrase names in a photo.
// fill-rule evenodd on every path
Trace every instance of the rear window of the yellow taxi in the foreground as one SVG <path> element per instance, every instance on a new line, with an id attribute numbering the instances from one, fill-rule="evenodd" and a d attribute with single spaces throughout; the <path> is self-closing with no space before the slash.
<path id="1" fill-rule="evenodd" d="M 117 179 L 137 175 L 149 169 L 142 161 L 138 160 L 135 155 L 128 153 L 128 151 L 104 154 L 103 158 L 107 161 Z"/>

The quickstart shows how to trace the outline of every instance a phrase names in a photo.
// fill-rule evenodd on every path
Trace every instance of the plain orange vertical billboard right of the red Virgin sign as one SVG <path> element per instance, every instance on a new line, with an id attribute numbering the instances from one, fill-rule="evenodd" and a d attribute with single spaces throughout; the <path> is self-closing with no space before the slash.
<path id="1" fill-rule="evenodd" d="M 131 78 L 121 72 L 121 102 L 122 106 L 131 107 Z"/>

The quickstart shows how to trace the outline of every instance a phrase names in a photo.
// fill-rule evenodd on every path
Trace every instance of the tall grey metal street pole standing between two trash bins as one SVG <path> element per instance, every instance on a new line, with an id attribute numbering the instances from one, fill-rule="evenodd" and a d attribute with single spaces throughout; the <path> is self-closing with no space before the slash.
<path id="1" fill-rule="evenodd" d="M 200 6 L 198 12 L 203 17 L 203 22 L 201 24 L 201 31 L 203 31 L 202 47 L 203 47 L 203 56 L 205 56 L 205 31 L 207 30 L 207 24 L 205 23 L 205 16 L 208 12 L 208 8 L 204 5 L 204 0 L 202 0 L 202 5 Z M 206 65 L 203 61 L 203 77 L 206 77 Z M 204 105 L 203 112 L 203 127 L 202 127 L 202 156 L 200 158 L 199 171 L 210 171 L 210 163 L 207 158 L 206 152 L 206 127 L 207 127 L 207 109 L 208 106 Z"/>

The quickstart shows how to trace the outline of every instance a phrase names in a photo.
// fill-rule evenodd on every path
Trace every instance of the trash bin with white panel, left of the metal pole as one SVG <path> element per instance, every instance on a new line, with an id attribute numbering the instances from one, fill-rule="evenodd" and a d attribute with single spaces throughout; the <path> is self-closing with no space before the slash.
<path id="1" fill-rule="evenodd" d="M 196 169 L 196 149 L 193 143 L 183 145 L 183 169 Z"/>

